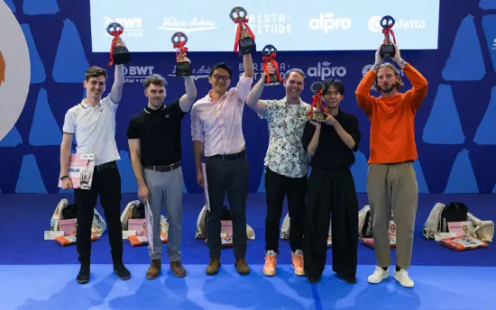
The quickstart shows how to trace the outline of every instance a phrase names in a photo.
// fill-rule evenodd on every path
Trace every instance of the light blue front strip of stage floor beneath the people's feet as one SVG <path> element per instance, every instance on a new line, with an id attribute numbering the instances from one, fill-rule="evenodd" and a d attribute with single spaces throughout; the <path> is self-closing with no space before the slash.
<path id="1" fill-rule="evenodd" d="M 164 266 L 161 278 L 144 278 L 147 265 L 129 265 L 133 277 L 123 281 L 111 265 L 93 265 L 91 281 L 74 280 L 77 265 L 0 266 L 3 310 L 41 309 L 494 309 L 496 268 L 415 266 L 416 287 L 401 287 L 394 278 L 379 285 L 366 281 L 372 266 L 360 266 L 358 282 L 346 285 L 326 269 L 317 284 L 280 266 L 278 276 L 262 275 L 262 265 L 240 276 L 223 265 L 214 277 L 204 265 L 187 265 L 188 277 L 176 278 Z"/>

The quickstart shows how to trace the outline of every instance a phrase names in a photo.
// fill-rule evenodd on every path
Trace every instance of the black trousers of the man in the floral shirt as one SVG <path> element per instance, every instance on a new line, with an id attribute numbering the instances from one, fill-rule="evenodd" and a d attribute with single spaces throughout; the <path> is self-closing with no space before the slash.
<path id="1" fill-rule="evenodd" d="M 289 246 L 291 251 L 303 251 L 303 216 L 306 194 L 306 175 L 301 178 L 289 178 L 268 167 L 265 169 L 265 195 L 267 197 L 265 251 L 279 253 L 280 216 L 284 196 L 288 196 Z"/>

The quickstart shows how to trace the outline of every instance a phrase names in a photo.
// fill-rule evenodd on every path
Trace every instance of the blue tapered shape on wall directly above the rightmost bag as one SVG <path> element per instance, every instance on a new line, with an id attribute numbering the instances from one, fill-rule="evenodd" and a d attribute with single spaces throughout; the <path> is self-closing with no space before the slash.
<path id="1" fill-rule="evenodd" d="M 473 175 L 472 162 L 468 150 L 456 156 L 455 164 L 448 178 L 445 193 L 478 193 L 477 180 Z"/>

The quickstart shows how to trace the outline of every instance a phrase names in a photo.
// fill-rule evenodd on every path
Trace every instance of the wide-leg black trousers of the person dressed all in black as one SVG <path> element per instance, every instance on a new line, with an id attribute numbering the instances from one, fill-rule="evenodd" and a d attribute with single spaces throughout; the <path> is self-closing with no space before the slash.
<path id="1" fill-rule="evenodd" d="M 350 169 L 312 169 L 305 213 L 305 271 L 318 278 L 324 272 L 332 213 L 333 270 L 344 277 L 356 274 L 358 200 Z"/>

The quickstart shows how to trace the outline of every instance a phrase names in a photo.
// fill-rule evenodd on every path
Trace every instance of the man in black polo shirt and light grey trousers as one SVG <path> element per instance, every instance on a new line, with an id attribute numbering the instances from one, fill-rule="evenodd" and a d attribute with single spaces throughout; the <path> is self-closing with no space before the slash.
<path id="1" fill-rule="evenodd" d="M 188 59 L 181 59 L 186 61 Z M 136 114 L 127 131 L 134 176 L 138 182 L 138 196 L 148 200 L 153 214 L 153 252 L 146 278 L 157 278 L 161 271 L 162 242 L 160 236 L 161 206 L 169 221 L 167 253 L 170 269 L 177 277 L 186 276 L 180 262 L 183 175 L 181 159 L 181 120 L 197 97 L 192 77 L 185 78 L 186 94 L 170 105 L 163 105 L 166 81 L 152 75 L 143 82 L 148 105 Z"/>

